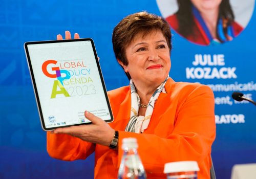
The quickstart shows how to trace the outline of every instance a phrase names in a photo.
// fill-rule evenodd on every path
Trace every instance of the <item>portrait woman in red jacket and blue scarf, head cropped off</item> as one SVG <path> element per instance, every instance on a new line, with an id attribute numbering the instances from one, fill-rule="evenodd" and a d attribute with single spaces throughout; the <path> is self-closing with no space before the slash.
<path id="1" fill-rule="evenodd" d="M 179 10 L 166 18 L 170 26 L 191 42 L 208 46 L 231 41 L 243 30 L 234 21 L 229 0 L 178 0 Z"/>

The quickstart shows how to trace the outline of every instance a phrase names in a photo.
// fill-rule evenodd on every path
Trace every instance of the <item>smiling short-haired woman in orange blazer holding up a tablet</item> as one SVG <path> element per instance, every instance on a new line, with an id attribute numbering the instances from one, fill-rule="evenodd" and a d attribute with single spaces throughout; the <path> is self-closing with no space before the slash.
<path id="1" fill-rule="evenodd" d="M 86 111 L 91 125 L 47 133 L 49 154 L 73 161 L 95 151 L 95 178 L 116 178 L 121 141 L 134 137 L 148 178 L 166 178 L 164 164 L 184 160 L 197 161 L 198 178 L 209 178 L 216 129 L 214 95 L 205 85 L 168 77 L 172 49 L 168 23 L 147 12 L 135 13 L 120 21 L 112 39 L 117 61 L 130 79 L 129 86 L 108 92 L 114 122 L 105 123 Z"/>

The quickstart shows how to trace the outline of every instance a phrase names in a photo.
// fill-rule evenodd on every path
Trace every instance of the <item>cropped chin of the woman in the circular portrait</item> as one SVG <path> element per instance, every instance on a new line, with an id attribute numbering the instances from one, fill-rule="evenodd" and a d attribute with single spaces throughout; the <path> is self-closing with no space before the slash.
<path id="1" fill-rule="evenodd" d="M 190 0 L 199 11 L 219 8 L 222 0 Z"/>

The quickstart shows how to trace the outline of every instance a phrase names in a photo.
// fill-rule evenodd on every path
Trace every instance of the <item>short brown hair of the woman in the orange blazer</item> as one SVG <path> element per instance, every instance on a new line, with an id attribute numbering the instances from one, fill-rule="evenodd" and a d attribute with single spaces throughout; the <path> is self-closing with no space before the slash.
<path id="1" fill-rule="evenodd" d="M 160 30 L 163 33 L 167 41 L 169 50 L 172 50 L 171 38 L 169 24 L 161 16 L 155 14 L 150 14 L 147 12 L 138 12 L 124 17 L 118 25 L 114 28 L 112 35 L 113 49 L 116 59 L 119 59 L 124 65 L 128 64 L 125 49 L 132 42 L 134 37 L 143 33 L 147 35 L 148 33 Z M 126 76 L 131 79 L 129 73 Z"/>

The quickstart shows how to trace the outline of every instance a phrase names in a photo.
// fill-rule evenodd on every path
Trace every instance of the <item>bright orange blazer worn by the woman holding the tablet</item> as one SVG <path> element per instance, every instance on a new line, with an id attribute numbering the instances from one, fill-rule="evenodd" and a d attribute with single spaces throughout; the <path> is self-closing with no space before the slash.
<path id="1" fill-rule="evenodd" d="M 121 141 L 134 137 L 148 178 L 166 178 L 164 164 L 175 161 L 197 161 L 200 168 L 198 178 L 210 178 L 210 152 L 216 135 L 211 89 L 206 85 L 175 82 L 169 78 L 165 90 L 166 94 L 159 95 L 150 124 L 142 134 L 124 131 L 130 120 L 130 86 L 108 92 L 114 115 L 114 121 L 109 125 L 119 131 L 118 150 L 47 132 L 49 155 L 73 161 L 86 159 L 95 151 L 94 177 L 117 178 L 122 157 Z"/>

